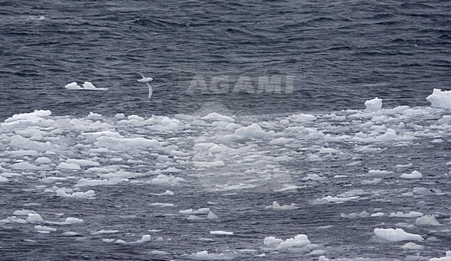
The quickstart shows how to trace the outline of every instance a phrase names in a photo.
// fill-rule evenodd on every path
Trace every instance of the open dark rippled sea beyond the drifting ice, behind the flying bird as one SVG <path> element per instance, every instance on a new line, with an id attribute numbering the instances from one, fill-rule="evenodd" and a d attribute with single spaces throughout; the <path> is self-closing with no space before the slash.
<path id="1" fill-rule="evenodd" d="M 1 116 L 171 114 L 214 100 L 241 114 L 427 105 L 449 88 L 448 1 L 2 1 Z M 45 17 L 39 20 L 39 17 Z M 155 99 L 142 99 L 142 71 Z M 201 75 L 294 75 L 294 92 L 187 95 Z M 106 93 L 67 92 L 90 81 Z"/>

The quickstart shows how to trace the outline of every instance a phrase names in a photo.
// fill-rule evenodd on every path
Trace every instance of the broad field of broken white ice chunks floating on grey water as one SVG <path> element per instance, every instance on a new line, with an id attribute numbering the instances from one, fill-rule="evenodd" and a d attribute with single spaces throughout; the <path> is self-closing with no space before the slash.
<path id="1" fill-rule="evenodd" d="M 0 124 L 1 247 L 450 260 L 450 93 L 427 100 L 330 114 L 15 114 Z"/>

